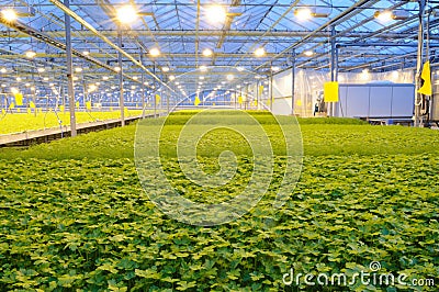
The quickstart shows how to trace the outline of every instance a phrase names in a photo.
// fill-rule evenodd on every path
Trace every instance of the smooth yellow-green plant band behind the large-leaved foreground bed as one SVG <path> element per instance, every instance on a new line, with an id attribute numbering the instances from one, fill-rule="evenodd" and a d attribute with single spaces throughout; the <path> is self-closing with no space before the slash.
<path id="1" fill-rule="evenodd" d="M 189 116 L 189 117 L 188 117 Z M 187 121 L 190 115 L 183 116 Z M 177 120 L 176 120 L 177 119 Z M 160 153 L 166 157 L 176 156 L 176 142 L 182 128 L 180 116 L 172 116 L 162 132 Z M 224 120 L 227 115 L 224 115 Z M 228 119 L 234 121 L 233 115 Z M 262 127 L 269 135 L 273 151 L 277 155 L 284 155 L 284 142 L 279 126 L 273 123 L 273 117 L 262 115 L 258 119 L 266 119 L 270 123 L 262 123 Z M 281 117 L 292 119 L 292 117 Z M 318 121 L 318 119 L 308 119 Z M 352 119 L 348 119 L 352 120 Z M 204 119 L 205 122 L 209 120 Z M 439 132 L 429 128 L 413 128 L 404 126 L 371 126 L 352 124 L 309 124 L 307 120 L 300 120 L 303 147 L 305 155 L 326 156 L 326 155 L 378 155 L 378 154 L 439 154 Z M 341 119 L 340 121 L 345 121 Z M 356 120 L 353 120 L 356 121 Z M 285 122 L 285 121 L 282 121 Z M 161 121 L 151 121 L 160 124 Z M 76 138 L 55 141 L 50 144 L 36 145 L 29 149 L 0 149 L 0 158 L 9 159 L 22 158 L 44 158 L 44 159 L 82 159 L 82 158 L 132 158 L 135 135 L 135 125 L 124 128 L 112 128 L 109 131 L 90 133 Z M 248 131 L 260 131 L 257 126 L 249 126 Z M 217 138 L 224 137 L 224 132 L 216 132 Z M 213 137 L 212 137 L 213 138 Z M 243 149 L 238 136 L 227 137 L 230 150 L 236 154 L 249 155 L 250 151 Z M 216 157 L 217 153 L 200 145 L 202 156 Z"/>

